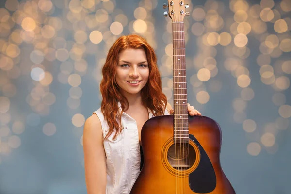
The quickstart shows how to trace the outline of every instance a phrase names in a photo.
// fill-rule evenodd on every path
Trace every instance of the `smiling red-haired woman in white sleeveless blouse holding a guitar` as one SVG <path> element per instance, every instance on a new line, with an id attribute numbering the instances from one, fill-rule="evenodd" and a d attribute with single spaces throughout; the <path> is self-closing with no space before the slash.
<path id="1" fill-rule="evenodd" d="M 122 36 L 102 69 L 101 108 L 83 134 L 88 194 L 128 194 L 140 172 L 141 129 L 153 116 L 173 113 L 162 93 L 156 54 L 139 35 Z M 201 115 L 188 104 L 189 115 Z"/>

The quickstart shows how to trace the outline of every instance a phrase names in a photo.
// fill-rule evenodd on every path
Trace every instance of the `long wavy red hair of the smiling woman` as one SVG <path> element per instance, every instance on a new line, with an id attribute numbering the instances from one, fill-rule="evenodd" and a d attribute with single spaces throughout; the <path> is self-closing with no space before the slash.
<path id="1" fill-rule="evenodd" d="M 113 139 L 121 132 L 121 115 L 129 108 L 129 102 L 124 97 L 115 81 L 119 53 L 127 48 L 143 49 L 146 52 L 146 59 L 149 67 L 149 77 L 145 87 L 141 90 L 143 105 L 149 108 L 155 116 L 164 115 L 167 104 L 167 97 L 162 93 L 161 75 L 157 66 L 157 56 L 154 49 L 148 44 L 145 38 L 130 34 L 119 37 L 109 49 L 106 62 L 102 69 L 103 78 L 100 83 L 102 94 L 101 112 L 106 119 L 109 131 L 107 139 L 115 130 Z M 121 112 L 118 109 L 118 102 L 121 104 Z M 155 111 L 155 113 L 153 112 Z"/>

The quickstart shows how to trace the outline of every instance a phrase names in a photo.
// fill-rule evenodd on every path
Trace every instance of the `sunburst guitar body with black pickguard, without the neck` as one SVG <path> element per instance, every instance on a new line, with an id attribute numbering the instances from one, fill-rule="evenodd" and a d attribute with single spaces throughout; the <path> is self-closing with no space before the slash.
<path id="1" fill-rule="evenodd" d="M 157 116 L 144 124 L 144 165 L 130 194 L 235 194 L 220 165 L 219 125 L 206 116 L 189 116 L 189 143 L 175 144 L 173 119 Z"/>

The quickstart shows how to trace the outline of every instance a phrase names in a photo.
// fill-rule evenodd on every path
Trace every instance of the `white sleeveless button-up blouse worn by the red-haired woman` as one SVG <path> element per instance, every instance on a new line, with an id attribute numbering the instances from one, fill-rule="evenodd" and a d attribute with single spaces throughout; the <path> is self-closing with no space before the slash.
<path id="1" fill-rule="evenodd" d="M 121 104 L 118 103 L 121 110 Z M 149 110 L 149 109 L 148 109 Z M 95 113 L 101 122 L 103 138 L 108 133 L 108 124 L 101 108 Z M 169 112 L 165 110 L 165 115 Z M 154 117 L 149 110 L 148 118 Z M 123 130 L 113 140 L 115 132 L 103 142 L 106 154 L 107 185 L 106 194 L 129 194 L 140 173 L 140 144 L 136 121 L 127 113 L 121 115 Z"/>

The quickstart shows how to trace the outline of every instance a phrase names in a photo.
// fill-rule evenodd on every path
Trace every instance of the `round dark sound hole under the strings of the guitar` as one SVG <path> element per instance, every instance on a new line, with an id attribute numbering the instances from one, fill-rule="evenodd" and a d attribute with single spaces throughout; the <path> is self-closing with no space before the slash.
<path id="1" fill-rule="evenodd" d="M 187 170 L 196 160 L 194 147 L 189 143 L 172 144 L 167 153 L 170 165 L 176 170 Z"/>

